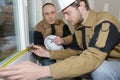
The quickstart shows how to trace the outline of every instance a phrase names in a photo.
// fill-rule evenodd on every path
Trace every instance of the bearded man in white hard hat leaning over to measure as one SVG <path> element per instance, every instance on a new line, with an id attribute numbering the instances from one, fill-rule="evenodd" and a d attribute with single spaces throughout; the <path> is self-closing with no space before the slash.
<path id="1" fill-rule="evenodd" d="M 72 78 L 91 73 L 93 80 L 120 80 L 119 21 L 106 12 L 89 9 L 87 0 L 57 1 L 65 19 L 75 26 L 71 46 L 79 46 L 81 50 L 46 51 L 34 46 L 32 52 L 36 55 L 63 61 L 44 67 L 23 62 L 0 69 L 0 76 L 7 79 L 35 80 L 51 76 L 54 79 Z"/>

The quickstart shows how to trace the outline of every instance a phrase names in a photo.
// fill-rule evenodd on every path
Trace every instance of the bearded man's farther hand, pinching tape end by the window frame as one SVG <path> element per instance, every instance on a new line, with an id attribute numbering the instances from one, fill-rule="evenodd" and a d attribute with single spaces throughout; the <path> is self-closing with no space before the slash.
<path id="1" fill-rule="evenodd" d="M 40 46 L 34 45 L 32 50 L 30 50 L 30 51 L 35 53 L 37 56 L 40 56 L 40 57 L 50 57 L 49 52 Z"/>

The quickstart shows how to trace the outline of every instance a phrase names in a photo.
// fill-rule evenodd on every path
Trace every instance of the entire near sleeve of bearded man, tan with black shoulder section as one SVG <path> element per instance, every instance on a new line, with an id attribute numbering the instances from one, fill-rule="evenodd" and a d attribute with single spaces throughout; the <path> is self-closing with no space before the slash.
<path id="1" fill-rule="evenodd" d="M 95 70 L 118 43 L 118 39 L 120 39 L 120 34 L 114 24 L 105 22 L 105 24 L 97 25 L 89 42 L 89 47 L 82 51 L 79 56 L 71 56 L 50 65 L 53 78 L 71 78 Z"/>

